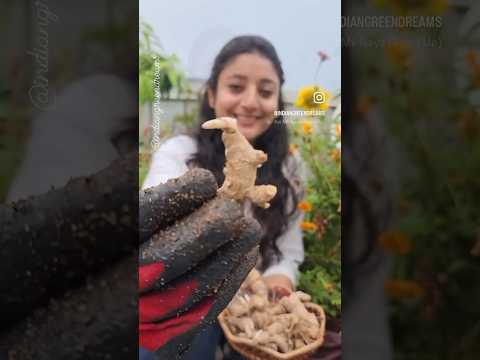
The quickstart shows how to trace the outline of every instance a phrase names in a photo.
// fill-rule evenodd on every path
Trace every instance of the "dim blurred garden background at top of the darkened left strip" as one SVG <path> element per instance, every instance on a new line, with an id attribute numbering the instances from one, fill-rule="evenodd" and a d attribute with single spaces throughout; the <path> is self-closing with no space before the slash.
<path id="1" fill-rule="evenodd" d="M 136 68 L 138 29 L 136 4 L 99 0 L 58 6 L 52 4 L 48 38 L 34 0 L 2 3 L 0 32 L 4 53 L 0 57 L 0 202 L 24 160 L 37 108 L 30 96 L 38 51 L 48 53 L 48 89 L 58 96 L 76 81 L 97 74 L 132 78 Z M 45 16 L 45 14 L 42 14 Z M 78 21 L 82 19 L 82 21 Z M 126 39 L 133 41 L 125 41 Z M 43 42 L 41 42 L 43 41 Z M 45 49 L 40 47 L 43 44 Z M 36 70 L 37 69 L 37 70 Z M 54 102 L 48 104 L 53 109 Z M 66 119 L 68 122 L 68 119 Z"/>

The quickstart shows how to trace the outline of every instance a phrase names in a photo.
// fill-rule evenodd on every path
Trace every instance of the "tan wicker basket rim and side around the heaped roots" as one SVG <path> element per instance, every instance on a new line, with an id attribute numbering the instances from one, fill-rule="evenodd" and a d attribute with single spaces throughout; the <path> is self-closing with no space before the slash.
<path id="1" fill-rule="evenodd" d="M 313 343 L 291 351 L 289 353 L 279 353 L 272 349 L 261 347 L 256 345 L 252 340 L 235 336 L 230 331 L 230 328 L 225 321 L 225 317 L 228 316 L 228 308 L 225 309 L 218 317 L 220 326 L 223 329 L 225 337 L 227 338 L 230 346 L 238 351 L 240 354 L 250 360 L 306 360 L 310 359 L 310 356 L 323 344 L 323 337 L 325 335 L 325 312 L 322 307 L 313 304 L 305 303 L 305 307 L 308 311 L 315 313 L 320 323 L 320 330 L 318 332 L 318 339 Z"/>

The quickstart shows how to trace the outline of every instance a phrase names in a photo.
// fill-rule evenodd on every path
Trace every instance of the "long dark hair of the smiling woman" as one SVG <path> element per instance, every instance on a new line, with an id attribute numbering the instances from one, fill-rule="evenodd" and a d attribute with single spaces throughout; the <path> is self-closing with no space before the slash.
<path id="1" fill-rule="evenodd" d="M 191 161 L 196 165 L 213 172 L 219 185 L 223 183 L 223 167 L 225 164 L 225 147 L 221 139 L 220 130 L 204 130 L 201 125 L 210 119 L 214 119 L 215 111 L 208 103 L 207 90 L 213 93 L 217 91 L 218 78 L 223 69 L 230 64 L 238 55 L 259 54 L 272 63 L 280 85 L 283 85 L 283 69 L 280 59 L 273 45 L 259 36 L 239 36 L 230 40 L 215 58 L 210 78 L 207 80 L 206 89 L 201 100 L 201 108 L 198 119 L 198 128 L 195 139 L 198 144 L 197 153 Z M 282 94 L 279 94 L 278 110 L 284 110 Z M 268 160 L 257 173 L 257 184 L 272 184 L 277 187 L 277 195 L 271 201 L 268 210 L 255 208 L 254 216 L 263 226 L 265 232 L 260 242 L 260 254 L 262 267 L 271 264 L 273 256 L 280 259 L 281 254 L 277 246 L 278 237 L 287 228 L 290 216 L 297 208 L 298 196 L 289 180 L 282 173 L 282 164 L 288 156 L 288 130 L 282 116 L 274 119 L 272 125 L 262 135 L 255 139 L 253 146 L 268 154 Z M 290 200 L 289 200 L 290 198 Z M 292 201 L 291 209 L 287 204 Z"/>

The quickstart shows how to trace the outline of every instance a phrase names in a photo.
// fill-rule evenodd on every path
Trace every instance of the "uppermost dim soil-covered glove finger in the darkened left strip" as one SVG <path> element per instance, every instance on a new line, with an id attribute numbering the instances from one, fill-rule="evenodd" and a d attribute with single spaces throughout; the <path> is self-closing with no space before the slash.
<path id="1" fill-rule="evenodd" d="M 138 248 L 137 164 L 0 205 L 0 332 Z"/>

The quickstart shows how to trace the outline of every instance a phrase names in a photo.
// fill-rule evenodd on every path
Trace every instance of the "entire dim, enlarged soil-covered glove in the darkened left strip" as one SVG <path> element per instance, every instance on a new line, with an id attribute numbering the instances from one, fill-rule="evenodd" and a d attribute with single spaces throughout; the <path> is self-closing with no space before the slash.
<path id="1" fill-rule="evenodd" d="M 0 215 L 0 358 L 135 358 L 138 153 Z"/>

